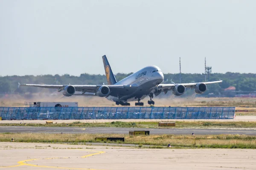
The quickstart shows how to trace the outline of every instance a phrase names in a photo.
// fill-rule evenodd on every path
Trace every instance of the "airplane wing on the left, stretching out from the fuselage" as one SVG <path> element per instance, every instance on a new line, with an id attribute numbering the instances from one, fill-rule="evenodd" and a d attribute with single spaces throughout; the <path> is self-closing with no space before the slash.
<path id="1" fill-rule="evenodd" d="M 20 84 L 20 86 L 29 86 L 29 87 L 39 87 L 39 88 L 55 88 L 58 89 L 58 92 L 62 91 L 66 86 L 68 85 L 36 85 L 36 84 Z M 88 93 L 96 93 L 98 89 L 102 85 L 72 85 L 76 89 L 76 91 L 81 91 L 82 94 L 88 92 Z M 133 85 L 105 85 L 108 86 L 109 90 L 111 91 L 111 95 L 116 96 L 117 94 L 126 93 L 127 89 L 133 91 L 137 88 L 137 86 Z M 115 95 L 116 94 L 116 95 Z M 93 94 L 84 94 L 83 96 L 93 96 Z"/>

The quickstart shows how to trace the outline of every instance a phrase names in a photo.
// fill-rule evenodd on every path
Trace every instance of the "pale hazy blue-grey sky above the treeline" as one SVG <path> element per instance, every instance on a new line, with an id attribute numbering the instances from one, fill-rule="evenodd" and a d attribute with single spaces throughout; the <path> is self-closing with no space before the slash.
<path id="1" fill-rule="evenodd" d="M 0 75 L 256 73 L 256 0 L 0 0 Z"/>

